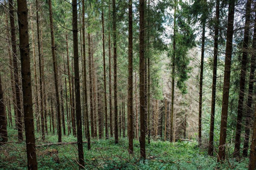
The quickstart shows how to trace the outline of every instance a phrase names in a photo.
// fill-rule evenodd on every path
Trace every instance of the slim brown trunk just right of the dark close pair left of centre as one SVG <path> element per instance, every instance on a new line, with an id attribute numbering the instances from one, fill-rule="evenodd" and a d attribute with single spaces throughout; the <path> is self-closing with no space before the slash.
<path id="1" fill-rule="evenodd" d="M 92 75 L 91 75 L 91 35 L 88 33 L 88 56 L 89 56 L 89 91 L 90 91 L 90 118 L 91 118 L 91 137 L 94 137 L 94 114 L 93 114 L 93 97 L 92 97 Z"/>

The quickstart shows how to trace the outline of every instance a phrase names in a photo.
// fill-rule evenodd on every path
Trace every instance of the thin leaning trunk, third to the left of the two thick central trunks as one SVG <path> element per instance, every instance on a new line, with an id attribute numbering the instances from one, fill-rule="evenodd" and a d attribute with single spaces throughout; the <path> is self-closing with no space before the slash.
<path id="1" fill-rule="evenodd" d="M 103 4 L 102 4 L 103 5 Z M 101 23 L 102 23 L 102 49 L 103 49 L 103 76 L 104 76 L 104 113 L 105 113 L 105 120 L 107 120 L 107 81 L 106 81 L 106 62 L 105 62 L 105 32 L 104 32 L 104 13 L 103 13 L 103 6 L 101 9 Z M 106 138 L 108 138 L 107 134 L 107 121 L 105 124 L 105 133 Z M 100 133 L 100 131 L 99 131 Z"/>

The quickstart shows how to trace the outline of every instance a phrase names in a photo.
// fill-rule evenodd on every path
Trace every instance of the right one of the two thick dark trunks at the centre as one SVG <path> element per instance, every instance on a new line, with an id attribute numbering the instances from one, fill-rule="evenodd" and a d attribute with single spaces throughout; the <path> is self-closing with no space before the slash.
<path id="1" fill-rule="evenodd" d="M 139 0 L 139 113 L 140 157 L 146 159 L 145 148 L 145 100 L 144 100 L 144 0 Z"/>

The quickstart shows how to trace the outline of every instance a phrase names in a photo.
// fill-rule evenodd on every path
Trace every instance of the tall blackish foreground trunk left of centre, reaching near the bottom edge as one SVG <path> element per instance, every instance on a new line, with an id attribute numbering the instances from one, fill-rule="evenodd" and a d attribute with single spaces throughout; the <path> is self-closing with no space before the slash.
<path id="1" fill-rule="evenodd" d="M 78 30 L 77 30 L 77 1 L 72 0 L 72 26 L 73 26 L 73 51 L 74 51 L 74 72 L 75 72 L 75 113 L 77 128 L 77 146 L 79 168 L 84 168 L 84 150 L 82 138 L 82 116 L 80 101 L 80 83 L 79 83 L 79 58 L 78 58 Z M 60 121 L 60 120 L 59 120 Z M 59 127 L 60 128 L 60 127 Z"/>

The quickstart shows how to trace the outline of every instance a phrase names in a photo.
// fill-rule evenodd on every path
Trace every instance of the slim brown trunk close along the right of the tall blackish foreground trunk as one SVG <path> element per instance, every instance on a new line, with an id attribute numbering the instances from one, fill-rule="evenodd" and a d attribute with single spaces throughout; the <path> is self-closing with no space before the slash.
<path id="1" fill-rule="evenodd" d="M 82 0 L 82 39 L 83 39 L 83 79 L 84 79 L 84 94 L 85 94 L 85 120 L 86 120 L 86 136 L 87 136 L 87 150 L 91 149 L 90 129 L 88 119 L 88 101 L 87 101 L 87 82 L 86 82 L 86 60 L 85 60 L 85 0 Z"/>

